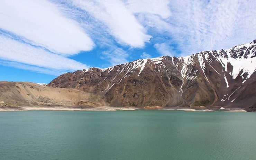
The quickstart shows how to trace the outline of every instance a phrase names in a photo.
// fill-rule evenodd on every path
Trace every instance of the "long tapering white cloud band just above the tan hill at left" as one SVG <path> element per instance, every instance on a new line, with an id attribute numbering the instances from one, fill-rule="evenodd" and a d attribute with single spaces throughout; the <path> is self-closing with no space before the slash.
<path id="1" fill-rule="evenodd" d="M 9 66 L 37 72 L 44 71 L 48 74 L 88 68 L 88 66 L 75 60 L 4 36 L 0 36 L 0 59 L 7 61 L 5 64 Z M 15 66 L 13 64 L 19 65 Z"/>

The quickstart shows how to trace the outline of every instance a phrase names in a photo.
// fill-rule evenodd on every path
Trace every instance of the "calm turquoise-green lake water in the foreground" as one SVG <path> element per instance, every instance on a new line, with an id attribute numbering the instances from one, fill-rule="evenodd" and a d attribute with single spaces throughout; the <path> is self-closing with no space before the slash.
<path id="1" fill-rule="evenodd" d="M 252 160 L 256 113 L 0 112 L 0 159 Z"/>

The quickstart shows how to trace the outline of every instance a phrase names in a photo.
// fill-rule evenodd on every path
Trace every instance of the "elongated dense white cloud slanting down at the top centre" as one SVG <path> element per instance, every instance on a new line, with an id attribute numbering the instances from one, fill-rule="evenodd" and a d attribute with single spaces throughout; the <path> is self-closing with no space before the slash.
<path id="1" fill-rule="evenodd" d="M 118 43 L 132 47 L 144 47 L 150 35 L 135 16 L 119 0 L 73 0 L 73 4 L 85 10 L 97 20 L 103 22 L 107 31 L 113 35 Z"/>

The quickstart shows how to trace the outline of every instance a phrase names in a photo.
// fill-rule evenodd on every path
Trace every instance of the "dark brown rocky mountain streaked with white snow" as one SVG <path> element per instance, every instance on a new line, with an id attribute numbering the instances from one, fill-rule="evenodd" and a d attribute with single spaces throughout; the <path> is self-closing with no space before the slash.
<path id="1" fill-rule="evenodd" d="M 65 73 L 48 84 L 107 98 L 112 106 L 256 107 L 256 40 L 186 57 L 138 59 Z"/>

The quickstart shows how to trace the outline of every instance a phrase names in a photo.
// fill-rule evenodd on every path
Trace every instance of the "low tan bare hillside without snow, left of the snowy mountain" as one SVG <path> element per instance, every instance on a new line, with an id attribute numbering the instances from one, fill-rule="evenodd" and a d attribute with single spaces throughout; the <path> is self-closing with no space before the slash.
<path id="1" fill-rule="evenodd" d="M 30 82 L 0 82 L 0 106 L 107 106 L 102 96 Z"/>

